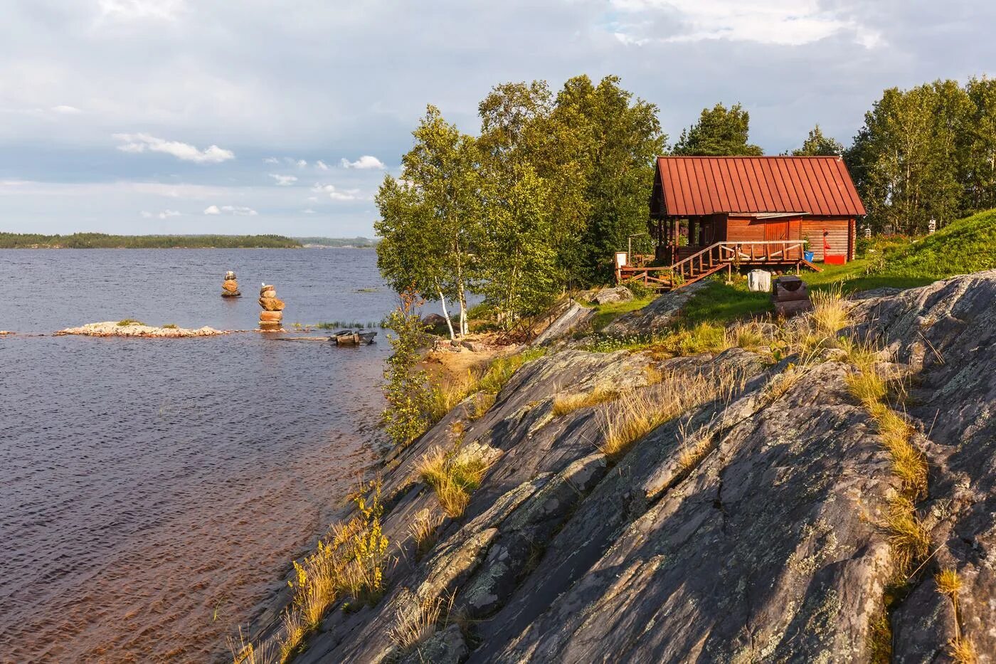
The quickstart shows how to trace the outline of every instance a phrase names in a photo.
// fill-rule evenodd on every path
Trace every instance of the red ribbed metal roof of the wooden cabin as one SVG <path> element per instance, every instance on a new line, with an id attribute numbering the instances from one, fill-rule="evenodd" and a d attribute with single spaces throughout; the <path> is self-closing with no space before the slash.
<path id="1" fill-rule="evenodd" d="M 663 209 L 858 216 L 865 205 L 839 157 L 658 157 Z"/>

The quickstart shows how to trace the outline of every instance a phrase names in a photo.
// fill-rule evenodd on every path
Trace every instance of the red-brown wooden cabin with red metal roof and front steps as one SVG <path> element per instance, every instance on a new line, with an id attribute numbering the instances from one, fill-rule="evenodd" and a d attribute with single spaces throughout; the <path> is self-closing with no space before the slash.
<path id="1" fill-rule="evenodd" d="M 617 276 L 669 289 L 723 268 L 844 263 L 865 213 L 839 157 L 658 157 L 648 229 L 668 266 L 620 254 Z"/>

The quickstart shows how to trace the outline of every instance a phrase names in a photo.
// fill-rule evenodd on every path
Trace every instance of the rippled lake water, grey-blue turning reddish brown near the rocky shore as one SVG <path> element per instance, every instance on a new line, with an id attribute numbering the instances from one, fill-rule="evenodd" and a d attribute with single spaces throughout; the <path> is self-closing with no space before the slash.
<path id="1" fill-rule="evenodd" d="M 388 351 L 382 332 L 343 349 L 27 335 L 125 317 L 252 329 L 262 281 L 285 326 L 378 321 L 395 296 L 374 261 L 0 251 L 0 330 L 19 333 L 0 337 L 0 661 L 217 657 L 372 462 Z M 219 296 L 229 269 L 242 298 Z"/>

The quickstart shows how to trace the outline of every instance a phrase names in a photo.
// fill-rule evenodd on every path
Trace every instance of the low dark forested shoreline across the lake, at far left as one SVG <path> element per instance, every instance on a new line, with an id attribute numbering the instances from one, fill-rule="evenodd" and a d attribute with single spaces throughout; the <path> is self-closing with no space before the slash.
<path id="1" fill-rule="evenodd" d="M 298 249 L 283 235 L 109 235 L 0 232 L 0 249 Z"/>

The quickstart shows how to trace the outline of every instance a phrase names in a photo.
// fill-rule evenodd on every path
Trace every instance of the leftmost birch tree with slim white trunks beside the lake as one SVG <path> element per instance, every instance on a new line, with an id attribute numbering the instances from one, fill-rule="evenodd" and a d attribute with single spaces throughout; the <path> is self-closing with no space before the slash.
<path id="1" fill-rule="evenodd" d="M 482 232 L 479 151 L 432 106 L 412 136 L 400 179 L 384 177 L 377 191 L 377 266 L 395 290 L 414 284 L 440 300 L 447 320 L 446 300 L 455 301 L 459 332 L 466 334 L 467 291 L 477 281 L 474 252 Z"/>

